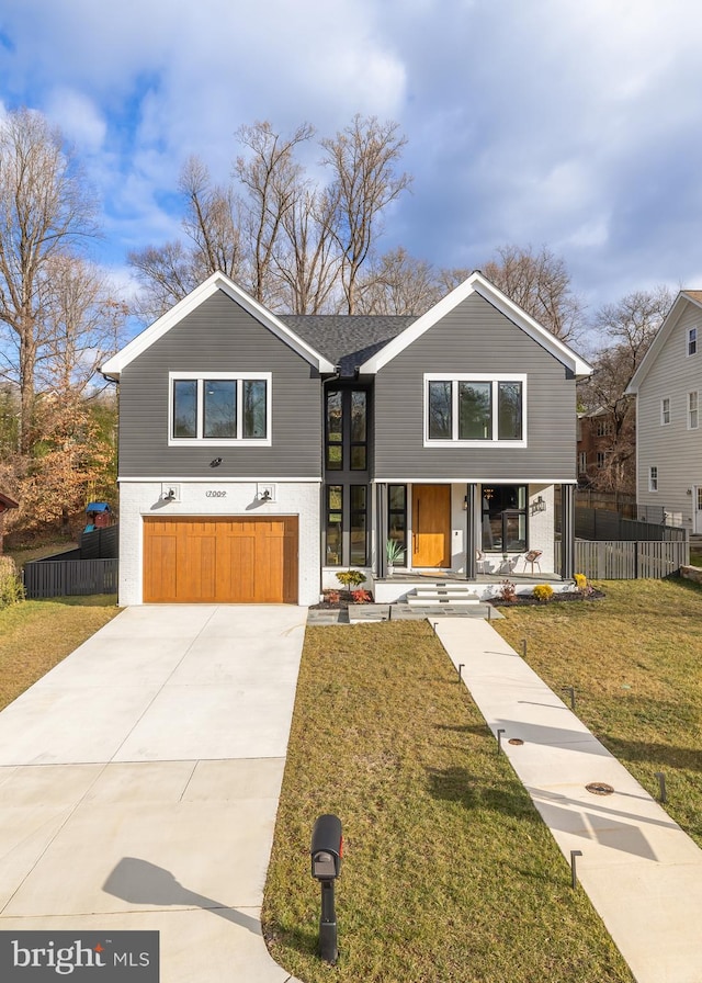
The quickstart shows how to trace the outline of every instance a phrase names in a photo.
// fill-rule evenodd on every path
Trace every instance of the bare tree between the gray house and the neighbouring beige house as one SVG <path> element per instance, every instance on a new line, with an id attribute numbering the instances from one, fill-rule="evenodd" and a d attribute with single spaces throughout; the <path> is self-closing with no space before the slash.
<path id="1" fill-rule="evenodd" d="M 636 404 L 625 389 L 672 303 L 667 287 L 636 291 L 595 315 L 592 327 L 601 339 L 592 357 L 595 372 L 579 386 L 588 409 L 604 410 L 610 426 L 604 466 L 595 477 L 607 491 L 635 490 Z"/>

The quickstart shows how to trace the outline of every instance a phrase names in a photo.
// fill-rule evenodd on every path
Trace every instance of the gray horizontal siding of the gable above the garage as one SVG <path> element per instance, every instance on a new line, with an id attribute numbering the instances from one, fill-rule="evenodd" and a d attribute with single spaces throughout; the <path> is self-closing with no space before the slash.
<path id="1" fill-rule="evenodd" d="M 169 372 L 271 372 L 270 448 L 168 445 Z M 309 363 L 224 293 L 205 301 L 122 373 L 120 475 L 319 477 L 321 385 Z"/>

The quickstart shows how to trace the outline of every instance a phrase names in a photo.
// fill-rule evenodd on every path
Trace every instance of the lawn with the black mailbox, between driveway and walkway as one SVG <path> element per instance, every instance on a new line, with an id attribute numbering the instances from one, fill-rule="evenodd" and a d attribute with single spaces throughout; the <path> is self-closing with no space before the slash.
<path id="1" fill-rule="evenodd" d="M 337 813 L 340 961 L 316 954 L 317 815 Z M 309 628 L 263 906 L 304 981 L 631 981 L 426 622 Z"/>

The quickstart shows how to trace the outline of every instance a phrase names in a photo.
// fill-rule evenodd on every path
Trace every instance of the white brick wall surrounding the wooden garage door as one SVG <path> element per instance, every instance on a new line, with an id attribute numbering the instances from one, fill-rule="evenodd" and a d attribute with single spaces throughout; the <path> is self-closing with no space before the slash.
<path id="1" fill-rule="evenodd" d="M 177 501 L 163 501 L 176 487 Z M 275 501 L 261 504 L 264 488 Z M 210 493 L 210 494 L 207 494 Z M 217 497 L 213 493 L 226 493 Z M 143 603 L 144 516 L 298 516 L 299 603 L 319 600 L 319 484 L 314 482 L 121 482 L 120 483 L 120 605 Z"/>

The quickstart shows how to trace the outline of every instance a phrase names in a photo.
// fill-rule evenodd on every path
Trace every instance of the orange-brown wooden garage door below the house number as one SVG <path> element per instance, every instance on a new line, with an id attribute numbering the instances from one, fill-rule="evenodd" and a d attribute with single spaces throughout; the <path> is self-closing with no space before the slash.
<path id="1" fill-rule="evenodd" d="M 145 517 L 145 603 L 297 603 L 297 517 Z"/>

